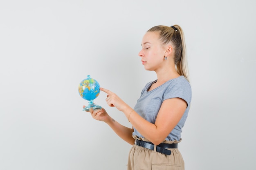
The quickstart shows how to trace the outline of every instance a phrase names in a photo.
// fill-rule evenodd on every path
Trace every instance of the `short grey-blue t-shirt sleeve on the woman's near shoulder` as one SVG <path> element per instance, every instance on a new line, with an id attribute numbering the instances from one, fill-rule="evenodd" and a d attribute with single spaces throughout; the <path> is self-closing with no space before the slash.
<path id="1" fill-rule="evenodd" d="M 175 83 L 170 84 L 164 92 L 163 100 L 171 98 L 184 99 L 187 105 L 191 102 L 191 86 L 186 79 L 177 79 Z"/>

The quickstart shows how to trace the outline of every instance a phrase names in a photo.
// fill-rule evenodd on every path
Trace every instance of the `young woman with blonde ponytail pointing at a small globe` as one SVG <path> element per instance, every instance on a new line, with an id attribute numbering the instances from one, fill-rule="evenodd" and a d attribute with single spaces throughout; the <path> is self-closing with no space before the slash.
<path id="1" fill-rule="evenodd" d="M 90 110 L 94 119 L 106 122 L 124 141 L 133 145 L 128 170 L 184 170 L 177 144 L 191 103 L 186 46 L 180 26 L 154 26 L 144 35 L 139 52 L 148 71 L 157 79 L 146 84 L 134 108 L 115 93 L 106 102 L 123 112 L 132 128 L 112 119 L 104 108 Z"/>

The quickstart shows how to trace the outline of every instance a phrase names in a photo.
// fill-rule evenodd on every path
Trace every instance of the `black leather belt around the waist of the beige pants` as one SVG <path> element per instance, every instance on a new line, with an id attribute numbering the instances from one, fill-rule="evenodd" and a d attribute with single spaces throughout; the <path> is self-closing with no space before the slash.
<path id="1" fill-rule="evenodd" d="M 147 142 L 147 141 L 140 141 L 140 140 L 135 140 L 135 144 L 138 146 L 142 146 L 144 148 L 148 148 L 151 150 L 154 150 L 154 144 L 151 142 Z M 156 151 L 166 154 L 166 155 L 171 155 L 171 150 L 168 150 L 166 148 L 178 148 L 178 144 L 159 144 L 157 145 Z"/>

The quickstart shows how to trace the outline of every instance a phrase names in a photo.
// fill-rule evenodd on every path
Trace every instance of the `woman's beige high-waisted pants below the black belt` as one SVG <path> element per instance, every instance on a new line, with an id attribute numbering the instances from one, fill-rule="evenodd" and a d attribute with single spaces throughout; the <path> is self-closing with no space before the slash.
<path id="1" fill-rule="evenodd" d="M 178 149 L 168 150 L 171 150 L 171 155 L 135 144 L 129 152 L 127 170 L 184 170 L 184 161 L 180 151 Z"/>

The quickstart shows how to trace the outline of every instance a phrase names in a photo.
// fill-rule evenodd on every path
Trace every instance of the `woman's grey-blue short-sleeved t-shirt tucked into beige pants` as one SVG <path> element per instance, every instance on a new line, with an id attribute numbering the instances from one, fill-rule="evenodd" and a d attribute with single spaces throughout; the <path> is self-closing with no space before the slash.
<path id="1" fill-rule="evenodd" d="M 137 104 L 134 107 L 134 110 L 147 121 L 155 124 L 155 120 L 158 114 L 158 111 L 165 99 L 171 98 L 181 98 L 184 99 L 187 103 L 187 108 L 184 115 L 175 126 L 175 128 L 170 132 L 166 137 L 167 141 L 179 141 L 181 139 L 182 127 L 185 124 L 186 118 L 189 113 L 190 103 L 191 103 L 191 86 L 184 76 L 171 79 L 161 86 L 148 91 L 150 86 L 155 83 L 149 82 L 143 88 L 140 98 L 137 100 Z M 132 135 L 137 135 L 138 137 L 143 137 L 135 128 Z M 143 137 L 144 138 L 144 137 Z"/>

